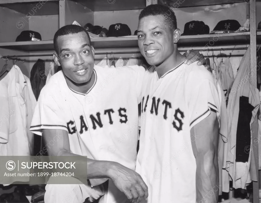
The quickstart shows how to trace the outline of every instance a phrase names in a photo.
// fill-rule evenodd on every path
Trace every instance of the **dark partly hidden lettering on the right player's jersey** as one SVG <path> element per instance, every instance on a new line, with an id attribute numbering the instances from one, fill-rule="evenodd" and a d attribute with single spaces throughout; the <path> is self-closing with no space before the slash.
<path id="1" fill-rule="evenodd" d="M 142 98 L 142 104 L 141 104 L 141 113 L 145 113 L 147 110 L 147 105 L 148 105 L 148 101 L 149 101 L 149 95 L 146 98 L 146 102 L 145 105 L 144 104 L 144 99 L 145 97 Z M 160 104 L 161 98 L 157 98 L 156 97 L 152 97 L 152 103 L 151 103 L 151 107 L 150 107 L 150 113 L 155 115 L 158 115 L 158 109 L 159 109 L 159 104 Z M 163 114 L 163 119 L 167 120 L 167 111 L 169 109 L 171 109 L 171 102 L 167 101 L 167 100 L 163 100 L 161 103 L 164 107 L 164 114 Z M 180 110 L 180 108 L 175 109 L 175 113 L 173 115 L 174 119 L 172 120 L 172 126 L 179 132 L 182 130 L 182 126 L 183 126 L 183 118 L 185 117 L 184 112 Z"/>

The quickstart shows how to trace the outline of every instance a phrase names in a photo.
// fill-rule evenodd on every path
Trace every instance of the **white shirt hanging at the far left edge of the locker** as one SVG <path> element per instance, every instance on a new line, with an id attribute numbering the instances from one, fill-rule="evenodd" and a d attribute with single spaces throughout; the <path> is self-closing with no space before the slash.
<path id="1" fill-rule="evenodd" d="M 0 81 L 0 103 L 0 156 L 29 156 L 33 148 L 29 128 L 36 99 L 29 78 L 16 65 Z M 12 184 L 27 182 L 29 177 L 0 177 L 0 182 L 3 180 Z"/>

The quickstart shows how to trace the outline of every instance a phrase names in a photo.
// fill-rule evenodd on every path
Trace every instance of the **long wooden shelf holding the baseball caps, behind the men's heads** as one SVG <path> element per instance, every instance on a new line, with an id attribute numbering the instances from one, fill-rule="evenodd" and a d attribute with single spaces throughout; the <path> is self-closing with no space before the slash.
<path id="1" fill-rule="evenodd" d="M 261 32 L 258 32 L 257 39 L 260 41 Z M 91 38 L 92 45 L 95 49 L 106 48 L 137 48 L 137 36 L 128 37 L 102 37 Z M 220 45 L 236 45 L 249 44 L 249 32 L 237 32 L 228 34 L 203 34 L 203 35 L 189 35 L 181 36 L 179 46 L 192 47 L 203 46 L 205 49 Z M 15 49 L 22 51 L 47 51 L 54 50 L 53 40 L 37 41 L 37 42 L 4 42 L 0 43 L 0 48 Z"/>

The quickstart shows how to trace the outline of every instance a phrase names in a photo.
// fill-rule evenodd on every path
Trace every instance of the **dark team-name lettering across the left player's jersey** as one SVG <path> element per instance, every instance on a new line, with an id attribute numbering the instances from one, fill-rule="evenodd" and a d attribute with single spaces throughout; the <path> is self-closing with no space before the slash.
<path id="1" fill-rule="evenodd" d="M 128 116 L 126 115 L 126 108 L 119 108 L 118 109 L 118 114 L 119 114 L 119 122 L 120 123 L 127 123 L 128 121 Z M 110 109 L 106 109 L 104 110 L 104 115 L 107 115 L 108 118 L 109 118 L 109 124 L 112 125 L 113 124 L 113 120 L 112 120 L 112 117 L 111 115 L 115 113 L 115 111 L 110 108 Z M 97 129 L 97 125 L 102 128 L 103 127 L 103 121 L 101 119 L 101 113 L 100 112 L 97 112 L 96 115 L 93 115 L 91 114 L 90 115 L 90 119 L 91 119 L 91 123 L 92 123 L 92 129 L 93 130 L 96 130 Z M 76 121 L 75 121 L 76 122 Z M 79 123 L 80 123 L 80 130 L 79 130 L 79 133 L 82 134 L 84 131 L 86 132 L 88 130 L 88 127 L 84 121 L 84 118 L 83 118 L 83 115 L 80 115 L 80 118 L 79 118 Z M 74 121 L 70 120 L 69 122 L 67 122 L 67 129 L 68 129 L 68 133 L 69 134 L 74 134 L 76 133 L 76 127 L 75 127 L 75 123 Z"/>

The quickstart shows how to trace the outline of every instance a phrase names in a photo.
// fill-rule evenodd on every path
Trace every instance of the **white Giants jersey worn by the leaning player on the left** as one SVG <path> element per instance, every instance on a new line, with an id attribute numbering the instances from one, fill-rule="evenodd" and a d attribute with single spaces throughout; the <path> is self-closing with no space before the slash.
<path id="1" fill-rule="evenodd" d="M 138 103 L 145 69 L 94 66 L 93 72 L 96 79 L 86 94 L 69 88 L 62 71 L 54 74 L 41 90 L 30 130 L 38 135 L 42 129 L 66 130 L 72 153 L 135 170 Z M 108 194 L 107 202 L 122 203 L 114 199 L 123 194 L 117 192 L 112 192 L 111 199 Z"/>

